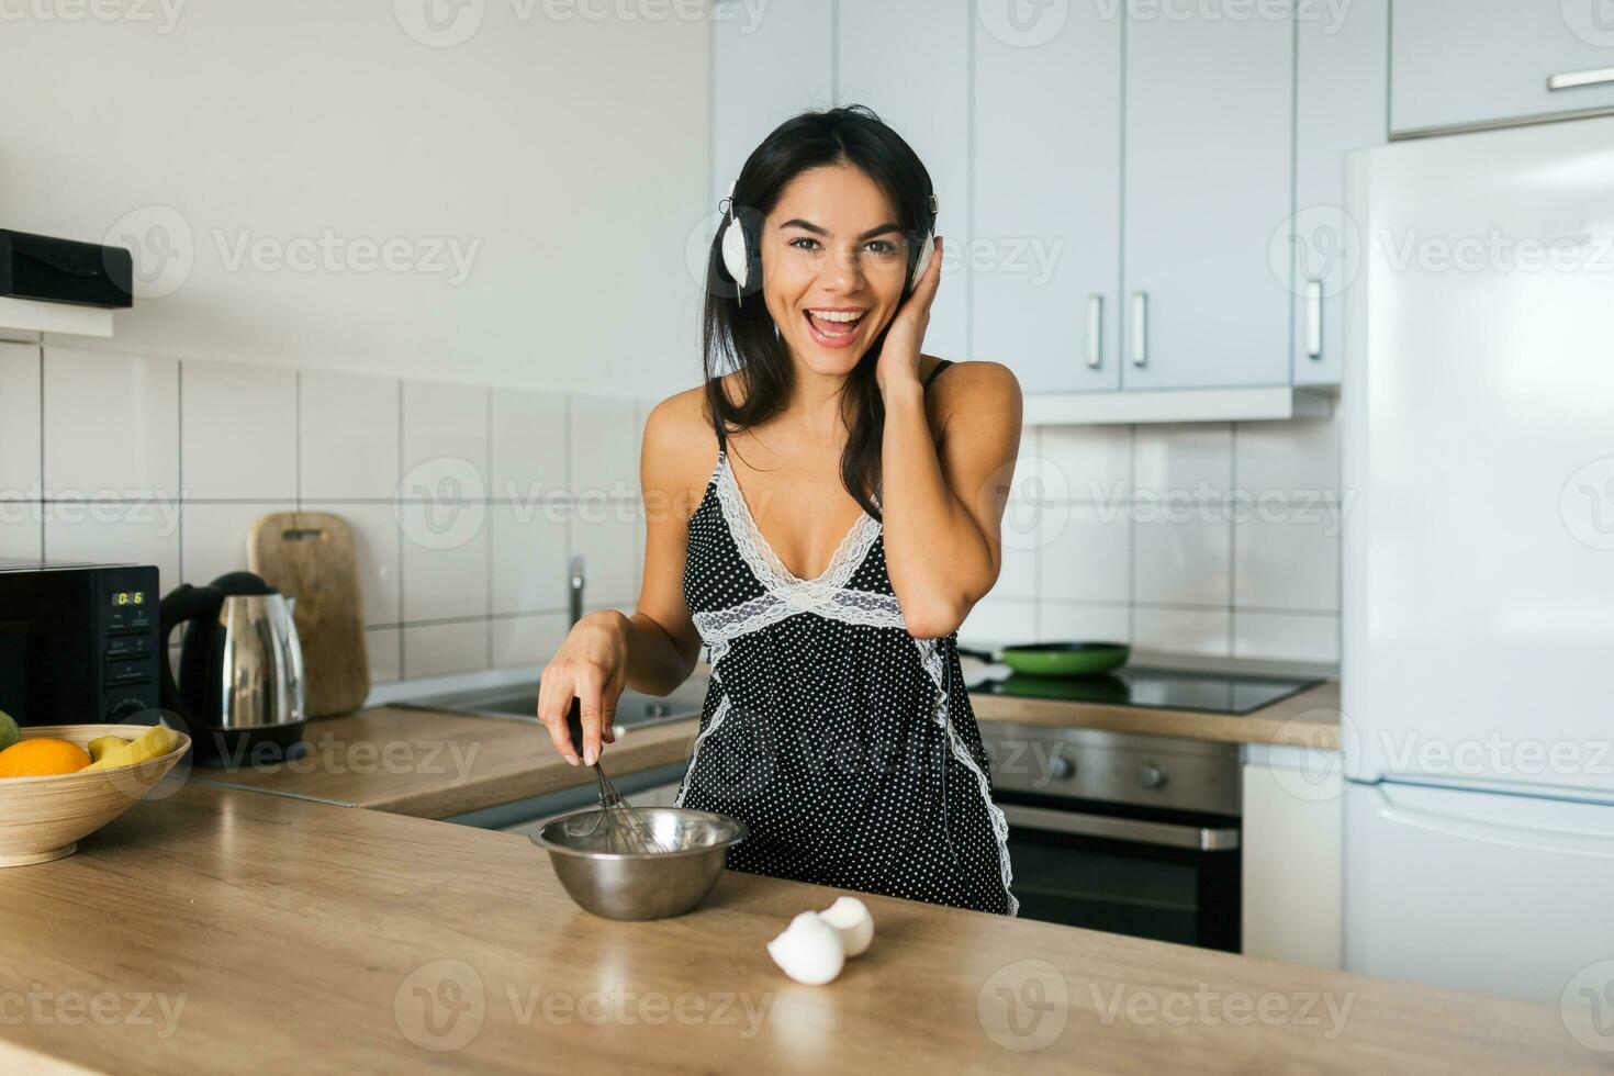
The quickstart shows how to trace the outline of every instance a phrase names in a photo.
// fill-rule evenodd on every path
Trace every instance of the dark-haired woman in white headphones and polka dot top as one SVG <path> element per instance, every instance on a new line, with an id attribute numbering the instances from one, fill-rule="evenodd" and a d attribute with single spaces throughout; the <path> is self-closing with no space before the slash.
<path id="1" fill-rule="evenodd" d="M 1018 384 L 920 352 L 930 174 L 867 108 L 786 121 L 726 202 L 705 384 L 644 427 L 638 611 L 571 629 L 539 718 L 592 765 L 623 687 L 668 694 L 705 644 L 678 803 L 751 826 L 731 868 L 1015 915 L 955 645 L 1001 566 Z"/>

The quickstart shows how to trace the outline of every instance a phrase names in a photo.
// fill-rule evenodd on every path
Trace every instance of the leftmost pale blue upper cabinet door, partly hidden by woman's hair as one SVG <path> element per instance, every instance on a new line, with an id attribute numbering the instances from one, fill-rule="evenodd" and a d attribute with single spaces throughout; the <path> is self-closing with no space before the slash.
<path id="1" fill-rule="evenodd" d="M 713 210 L 770 131 L 804 108 L 830 106 L 831 8 L 831 0 L 712 5 Z"/>

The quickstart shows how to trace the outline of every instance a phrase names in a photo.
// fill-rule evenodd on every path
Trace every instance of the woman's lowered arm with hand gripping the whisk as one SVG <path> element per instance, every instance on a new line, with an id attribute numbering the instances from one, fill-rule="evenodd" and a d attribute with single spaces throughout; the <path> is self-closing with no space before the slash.
<path id="1" fill-rule="evenodd" d="M 691 418 L 691 408 L 694 418 Z M 537 718 L 567 761 L 592 765 L 600 742 L 612 742 L 617 700 L 625 687 L 667 695 L 686 679 L 700 657 L 700 636 L 683 594 L 686 523 L 694 510 L 689 476 L 699 473 L 705 444 L 699 429 L 700 392 L 663 400 L 644 424 L 639 460 L 644 487 L 644 581 L 633 616 L 615 610 L 589 613 L 567 634 L 544 666 Z M 694 469 L 691 469 L 694 468 Z M 702 487 L 704 489 L 704 487 Z M 583 703 L 583 744 L 567 731 L 571 699 Z"/>

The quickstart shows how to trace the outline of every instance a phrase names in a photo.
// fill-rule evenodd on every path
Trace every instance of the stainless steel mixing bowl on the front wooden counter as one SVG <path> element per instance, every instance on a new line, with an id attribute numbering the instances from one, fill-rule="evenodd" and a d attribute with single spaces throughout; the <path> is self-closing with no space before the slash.
<path id="1" fill-rule="evenodd" d="M 533 826 L 567 894 L 608 920 L 665 920 L 694 908 L 723 874 L 730 845 L 746 839 L 738 818 L 684 807 L 641 807 L 639 815 L 670 852 L 607 852 L 599 808 L 568 811 Z"/>

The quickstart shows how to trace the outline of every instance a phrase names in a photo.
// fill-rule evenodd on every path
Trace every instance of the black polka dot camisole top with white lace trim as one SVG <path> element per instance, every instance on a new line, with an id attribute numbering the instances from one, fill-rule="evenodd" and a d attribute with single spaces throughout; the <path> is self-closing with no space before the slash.
<path id="1" fill-rule="evenodd" d="M 683 581 L 712 684 L 676 803 L 749 824 L 733 870 L 1015 915 L 957 632 L 907 634 L 880 532 L 863 513 L 830 568 L 797 579 L 718 431 Z"/>

